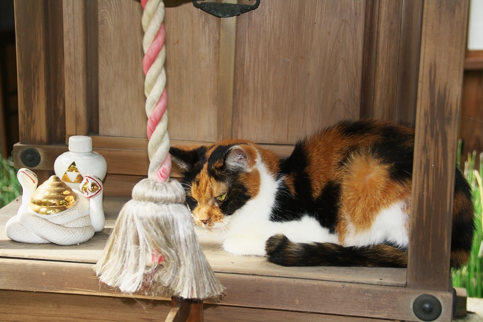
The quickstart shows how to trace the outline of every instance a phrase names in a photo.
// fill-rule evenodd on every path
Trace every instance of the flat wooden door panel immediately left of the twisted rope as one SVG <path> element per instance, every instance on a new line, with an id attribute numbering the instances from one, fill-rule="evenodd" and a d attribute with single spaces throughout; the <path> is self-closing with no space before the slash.
<path id="1" fill-rule="evenodd" d="M 104 0 L 98 14 L 99 135 L 145 138 L 142 8 Z"/>

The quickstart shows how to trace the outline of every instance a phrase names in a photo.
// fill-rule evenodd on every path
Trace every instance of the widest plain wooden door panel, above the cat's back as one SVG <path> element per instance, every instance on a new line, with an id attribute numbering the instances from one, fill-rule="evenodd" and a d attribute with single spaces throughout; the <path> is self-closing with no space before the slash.
<path id="1" fill-rule="evenodd" d="M 265 1 L 240 15 L 233 137 L 294 144 L 358 118 L 364 9 L 365 1 Z"/>

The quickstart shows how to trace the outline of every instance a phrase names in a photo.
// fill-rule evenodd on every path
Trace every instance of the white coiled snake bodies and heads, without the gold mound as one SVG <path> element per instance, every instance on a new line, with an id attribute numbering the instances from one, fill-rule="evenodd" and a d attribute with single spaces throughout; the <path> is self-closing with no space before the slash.
<path id="1" fill-rule="evenodd" d="M 35 173 L 23 168 L 19 170 L 17 178 L 23 189 L 22 205 L 17 215 L 5 225 L 10 239 L 30 244 L 73 245 L 84 243 L 92 238 L 94 232 L 104 229 L 103 187 L 96 176 L 85 176 L 79 186 L 84 194 L 74 190 L 77 195 L 75 203 L 56 214 L 36 213 L 29 206 L 38 184 Z"/>

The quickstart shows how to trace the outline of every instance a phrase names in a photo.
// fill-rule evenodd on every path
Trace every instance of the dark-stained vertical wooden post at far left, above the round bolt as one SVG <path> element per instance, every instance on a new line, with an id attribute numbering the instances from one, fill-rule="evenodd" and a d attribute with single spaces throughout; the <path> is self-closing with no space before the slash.
<path id="1" fill-rule="evenodd" d="M 48 144 L 45 1 L 15 0 L 20 142 Z M 35 26 L 33 28 L 32 26 Z"/>

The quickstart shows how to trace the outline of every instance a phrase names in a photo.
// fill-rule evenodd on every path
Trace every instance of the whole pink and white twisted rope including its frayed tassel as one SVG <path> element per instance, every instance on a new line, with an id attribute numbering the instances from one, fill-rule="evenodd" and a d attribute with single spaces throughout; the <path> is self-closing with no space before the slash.
<path id="1" fill-rule="evenodd" d="M 141 5 L 148 178 L 134 186 L 132 200 L 121 209 L 94 269 L 102 282 L 126 293 L 192 299 L 218 296 L 224 288 L 200 249 L 183 187 L 169 178 L 164 3 L 141 0 Z"/>

